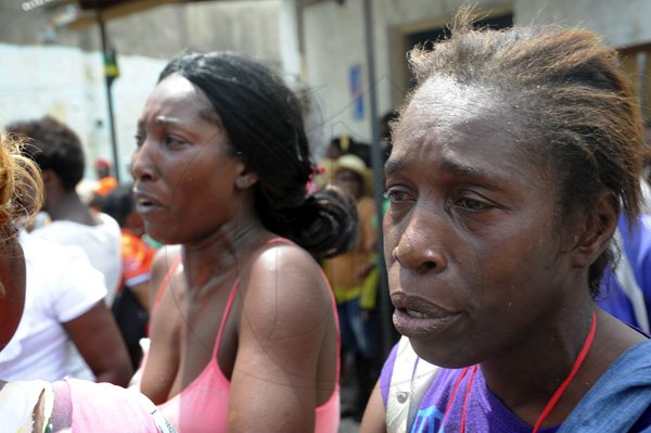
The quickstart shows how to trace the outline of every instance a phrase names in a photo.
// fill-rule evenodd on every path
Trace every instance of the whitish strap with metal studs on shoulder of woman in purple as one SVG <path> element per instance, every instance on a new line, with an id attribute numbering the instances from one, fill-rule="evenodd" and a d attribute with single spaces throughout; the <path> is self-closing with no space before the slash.
<path id="1" fill-rule="evenodd" d="M 409 339 L 400 339 L 386 399 L 387 433 L 408 431 L 438 370 L 438 367 L 419 358 Z"/>

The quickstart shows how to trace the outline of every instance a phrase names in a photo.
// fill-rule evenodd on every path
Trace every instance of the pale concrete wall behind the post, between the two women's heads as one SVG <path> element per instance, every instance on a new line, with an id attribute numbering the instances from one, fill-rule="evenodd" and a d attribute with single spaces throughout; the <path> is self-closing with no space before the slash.
<path id="1" fill-rule="evenodd" d="M 378 112 L 382 115 L 399 104 L 406 92 L 407 62 L 404 35 L 445 25 L 463 0 L 374 0 L 372 23 L 375 47 L 375 82 L 368 82 L 362 0 L 343 4 L 323 1 L 303 11 L 307 71 L 305 79 L 321 106 L 324 140 L 349 135 L 371 141 L 368 91 L 378 94 Z M 487 10 L 510 10 L 505 1 L 484 1 Z M 350 68 L 360 66 L 365 89 L 365 115 L 354 116 L 355 104 L 349 89 Z"/>

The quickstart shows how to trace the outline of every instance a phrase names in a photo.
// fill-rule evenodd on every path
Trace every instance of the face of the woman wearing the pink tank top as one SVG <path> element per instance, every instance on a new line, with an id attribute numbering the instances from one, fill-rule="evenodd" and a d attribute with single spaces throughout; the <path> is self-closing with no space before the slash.
<path id="1" fill-rule="evenodd" d="M 244 166 L 219 123 L 202 90 L 179 75 L 149 97 L 131 173 L 138 213 L 157 241 L 201 240 L 233 217 L 234 179 Z"/>

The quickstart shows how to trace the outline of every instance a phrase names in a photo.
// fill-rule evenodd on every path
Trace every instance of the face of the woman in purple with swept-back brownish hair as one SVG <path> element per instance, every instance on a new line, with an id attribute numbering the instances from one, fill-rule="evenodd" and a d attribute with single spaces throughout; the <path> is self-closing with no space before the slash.
<path id="1" fill-rule="evenodd" d="M 407 106 L 385 166 L 394 323 L 445 367 L 515 348 L 570 292 L 552 176 L 522 151 L 527 137 L 494 101 L 431 79 Z"/>

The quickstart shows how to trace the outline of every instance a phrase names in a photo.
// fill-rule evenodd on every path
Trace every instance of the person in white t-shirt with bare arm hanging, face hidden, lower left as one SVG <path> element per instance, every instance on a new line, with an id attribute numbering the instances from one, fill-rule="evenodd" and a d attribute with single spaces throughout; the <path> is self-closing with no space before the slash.
<path id="1" fill-rule="evenodd" d="M 7 347 L 0 352 L 4 380 L 62 380 L 67 375 L 68 345 L 79 349 L 98 382 L 124 385 L 130 377 L 126 347 L 103 303 L 104 277 L 84 251 L 20 235 L 26 268 L 25 310 Z"/>

